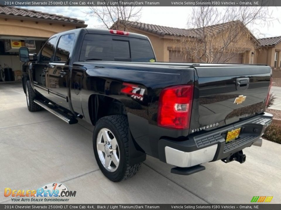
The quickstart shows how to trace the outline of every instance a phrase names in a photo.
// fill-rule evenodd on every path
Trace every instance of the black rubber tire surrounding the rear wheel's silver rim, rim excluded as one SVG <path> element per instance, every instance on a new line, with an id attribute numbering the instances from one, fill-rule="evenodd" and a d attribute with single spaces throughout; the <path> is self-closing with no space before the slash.
<path id="1" fill-rule="evenodd" d="M 119 165 L 111 172 L 102 164 L 97 150 L 97 138 L 101 129 L 109 129 L 114 135 L 119 148 Z M 109 132 L 109 134 L 110 134 Z M 93 148 L 95 158 L 100 170 L 109 180 L 119 182 L 134 176 L 140 169 L 141 163 L 129 165 L 129 126 L 128 119 L 124 115 L 111 115 L 100 118 L 97 121 L 93 133 Z"/>

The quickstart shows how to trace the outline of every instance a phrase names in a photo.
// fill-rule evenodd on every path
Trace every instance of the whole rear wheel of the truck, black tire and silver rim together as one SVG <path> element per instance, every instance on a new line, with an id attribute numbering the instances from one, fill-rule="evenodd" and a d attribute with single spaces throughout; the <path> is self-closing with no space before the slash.
<path id="1" fill-rule="evenodd" d="M 129 165 L 129 126 L 124 115 L 111 115 L 97 121 L 93 148 L 100 170 L 118 182 L 134 176 L 140 164 Z"/>

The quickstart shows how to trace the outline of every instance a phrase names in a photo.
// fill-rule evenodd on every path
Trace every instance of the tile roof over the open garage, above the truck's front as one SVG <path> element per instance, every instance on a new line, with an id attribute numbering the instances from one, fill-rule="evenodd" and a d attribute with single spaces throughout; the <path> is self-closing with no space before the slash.
<path id="1" fill-rule="evenodd" d="M 54 20 L 54 21 L 62 21 L 62 22 L 69 22 L 73 24 L 84 24 L 84 20 L 78 20 L 72 17 L 65 17 L 56 14 L 50 13 L 43 13 L 40 11 L 29 10 L 19 7 L 7 7 L 7 6 L 0 6 L 0 15 L 13 15 L 13 16 L 21 16 L 21 17 L 32 17 L 32 18 L 39 18 L 44 20 Z"/>

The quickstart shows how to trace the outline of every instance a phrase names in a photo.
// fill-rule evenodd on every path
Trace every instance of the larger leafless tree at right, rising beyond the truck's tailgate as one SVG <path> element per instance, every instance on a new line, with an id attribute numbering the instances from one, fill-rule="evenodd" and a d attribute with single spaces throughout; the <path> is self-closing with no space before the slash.
<path id="1" fill-rule="evenodd" d="M 247 27 L 265 26 L 273 20 L 268 7 L 192 7 L 190 29 L 174 47 L 195 62 L 226 63 L 241 53 L 251 56 L 253 46 L 258 46 Z"/>

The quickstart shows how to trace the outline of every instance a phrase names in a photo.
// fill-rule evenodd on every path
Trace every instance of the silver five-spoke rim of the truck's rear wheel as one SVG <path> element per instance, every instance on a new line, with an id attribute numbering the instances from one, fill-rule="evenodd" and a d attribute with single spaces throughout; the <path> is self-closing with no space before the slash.
<path id="1" fill-rule="evenodd" d="M 97 152 L 107 171 L 116 171 L 120 162 L 119 146 L 113 133 L 107 129 L 100 129 L 97 134 Z"/>

